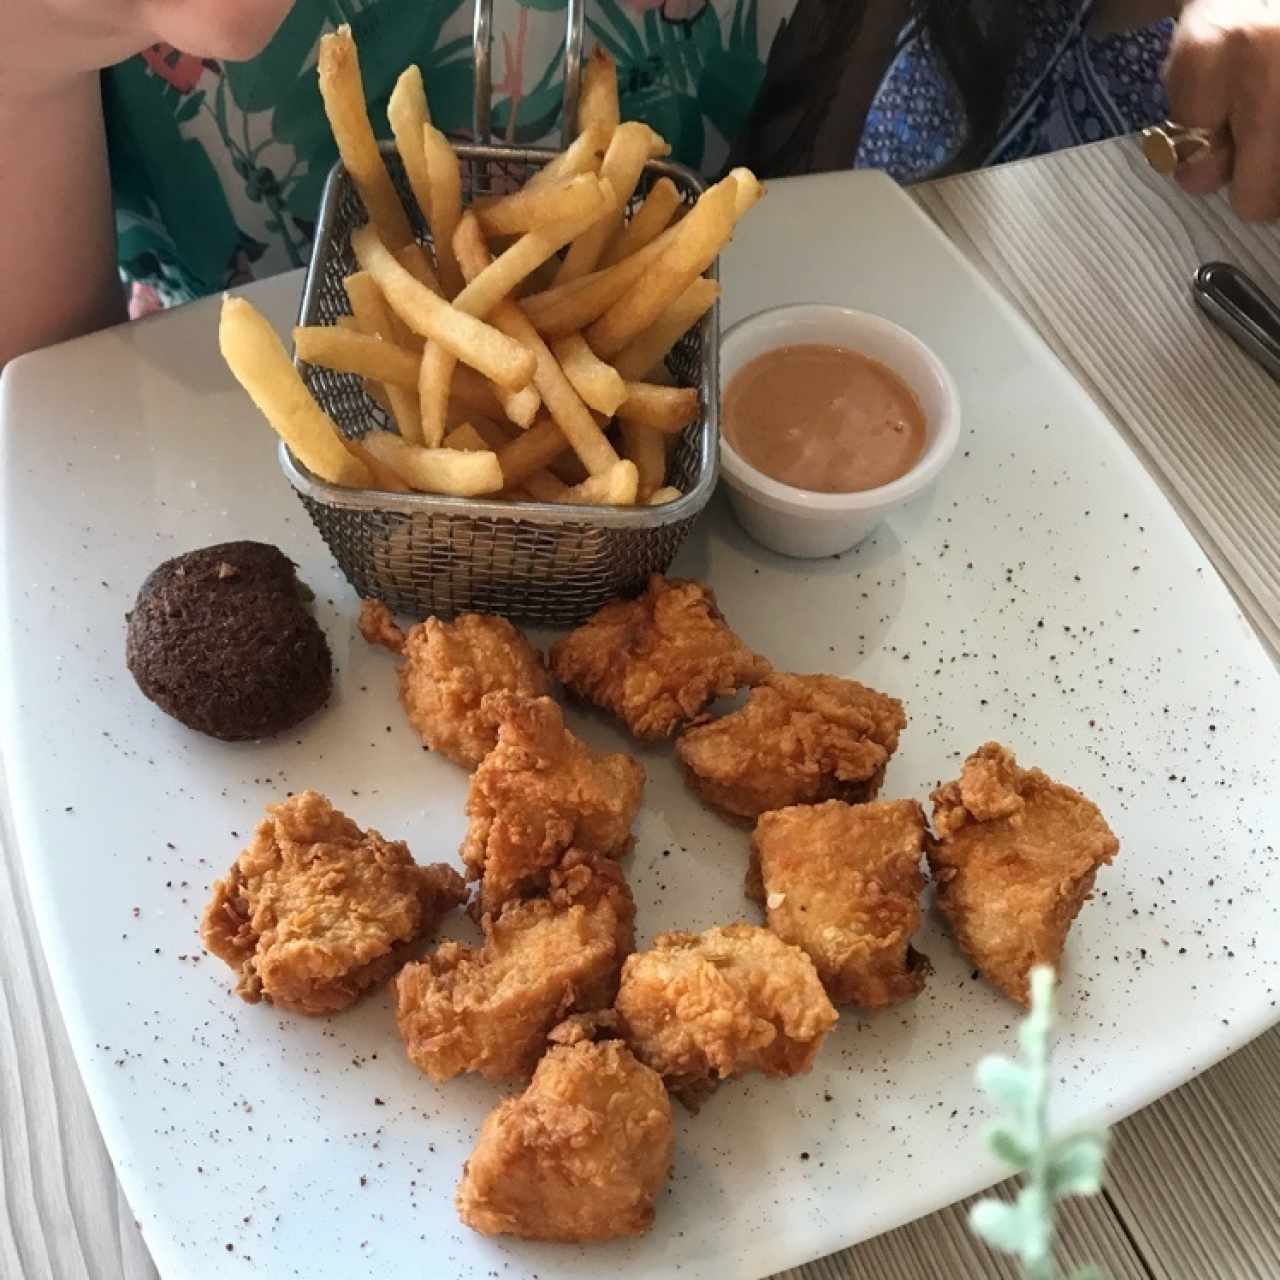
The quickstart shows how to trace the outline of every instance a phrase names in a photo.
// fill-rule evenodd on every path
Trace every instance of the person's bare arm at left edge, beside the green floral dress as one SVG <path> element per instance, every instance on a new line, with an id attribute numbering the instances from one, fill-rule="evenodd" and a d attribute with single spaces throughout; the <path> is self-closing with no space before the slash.
<path id="1" fill-rule="evenodd" d="M 125 316 L 96 72 L 58 88 L 0 82 L 0 367 Z"/>

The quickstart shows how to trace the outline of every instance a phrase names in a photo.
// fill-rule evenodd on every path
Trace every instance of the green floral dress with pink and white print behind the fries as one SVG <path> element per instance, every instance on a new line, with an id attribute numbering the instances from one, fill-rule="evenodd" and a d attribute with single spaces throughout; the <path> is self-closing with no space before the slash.
<path id="1" fill-rule="evenodd" d="M 763 9 L 772 10 L 768 15 Z M 676 159 L 714 170 L 746 119 L 787 0 L 590 0 L 590 33 L 617 59 L 623 118 L 650 123 Z M 320 35 L 349 22 L 370 116 L 416 61 L 435 123 L 471 127 L 466 0 L 296 0 L 250 63 L 157 45 L 104 74 L 122 273 L 169 305 L 306 264 L 337 159 L 316 87 Z M 498 0 L 494 132 L 558 137 L 564 0 Z M 136 294 L 138 296 L 138 294 Z"/>

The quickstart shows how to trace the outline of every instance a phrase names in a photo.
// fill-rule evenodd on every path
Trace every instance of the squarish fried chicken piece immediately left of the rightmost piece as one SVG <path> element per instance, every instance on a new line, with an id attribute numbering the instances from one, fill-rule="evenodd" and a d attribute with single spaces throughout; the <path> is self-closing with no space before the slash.
<path id="1" fill-rule="evenodd" d="M 833 1004 L 882 1009 L 919 995 L 929 970 L 911 946 L 923 852 L 914 800 L 776 809 L 755 826 L 748 892 L 813 960 Z"/>

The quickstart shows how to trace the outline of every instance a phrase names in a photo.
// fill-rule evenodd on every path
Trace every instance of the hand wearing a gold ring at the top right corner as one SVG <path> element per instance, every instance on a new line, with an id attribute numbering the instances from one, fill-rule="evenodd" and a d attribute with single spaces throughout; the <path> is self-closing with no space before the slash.
<path id="1" fill-rule="evenodd" d="M 1183 189 L 1230 183 L 1242 218 L 1280 218 L 1280 0 L 1188 0 L 1165 81 L 1170 118 L 1213 140 L 1179 165 Z"/>

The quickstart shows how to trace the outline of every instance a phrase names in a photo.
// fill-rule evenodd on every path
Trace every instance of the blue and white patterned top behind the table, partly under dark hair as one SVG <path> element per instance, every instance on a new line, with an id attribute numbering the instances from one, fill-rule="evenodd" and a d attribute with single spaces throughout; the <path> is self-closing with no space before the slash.
<path id="1" fill-rule="evenodd" d="M 1132 133 L 1167 114 L 1160 78 L 1172 20 L 1093 37 L 1093 0 L 1029 0 L 1032 36 L 1006 95 L 1004 123 L 983 164 Z M 855 168 L 916 182 L 943 168 L 965 142 L 964 111 L 940 74 L 928 32 L 909 23 L 858 145 Z"/>

